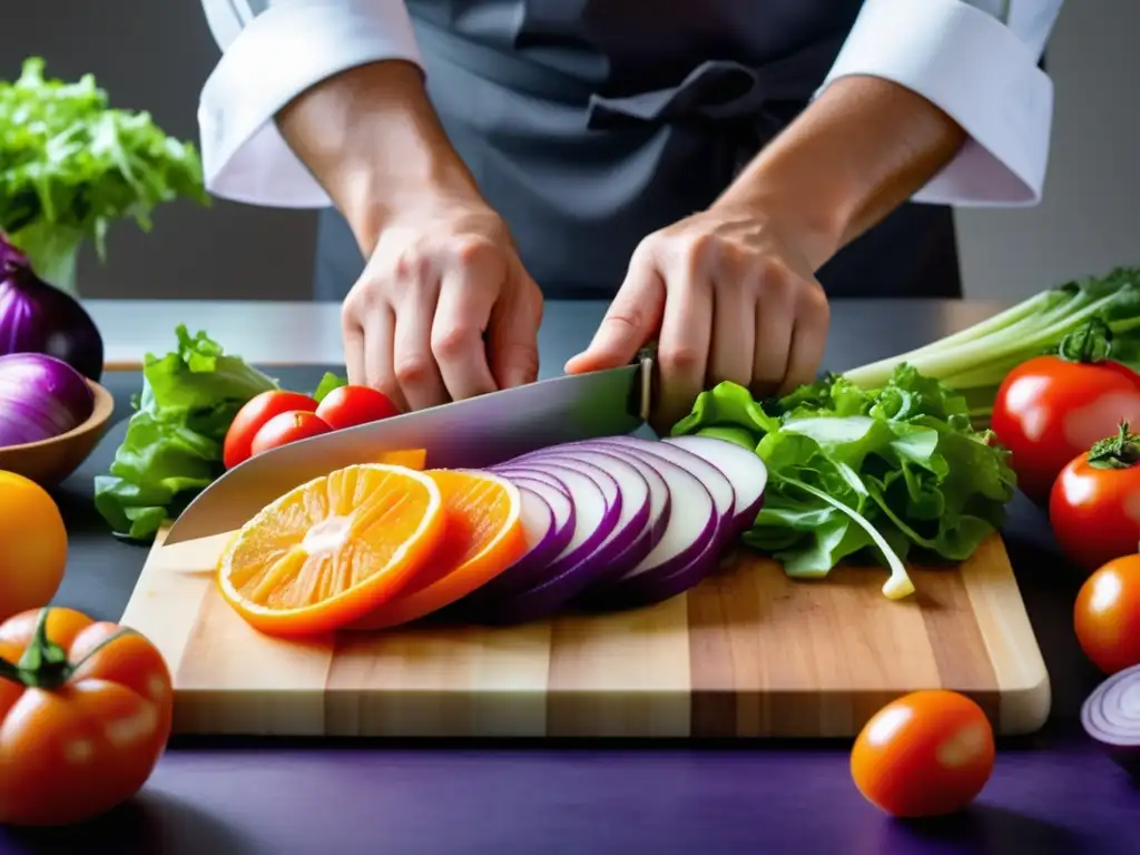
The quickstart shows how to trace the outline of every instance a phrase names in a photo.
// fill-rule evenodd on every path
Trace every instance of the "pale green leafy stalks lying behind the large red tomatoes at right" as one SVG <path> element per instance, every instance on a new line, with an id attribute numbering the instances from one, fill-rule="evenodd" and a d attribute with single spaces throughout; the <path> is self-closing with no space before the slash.
<path id="1" fill-rule="evenodd" d="M 1121 267 L 1050 288 L 980 324 L 844 376 L 860 389 L 876 389 L 906 363 L 960 392 L 970 417 L 985 422 L 1009 372 L 1035 356 L 1057 352 L 1069 333 L 1094 319 L 1102 320 L 1108 333 L 1107 348 L 1096 356 L 1140 368 L 1140 268 Z"/>

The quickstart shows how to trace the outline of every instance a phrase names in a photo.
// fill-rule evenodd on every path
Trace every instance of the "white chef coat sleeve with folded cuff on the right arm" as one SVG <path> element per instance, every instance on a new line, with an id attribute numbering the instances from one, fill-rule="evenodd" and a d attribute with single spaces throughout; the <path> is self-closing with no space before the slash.
<path id="1" fill-rule="evenodd" d="M 820 91 L 848 75 L 918 92 L 969 135 L 914 202 L 1040 202 L 1052 81 L 1039 67 L 1062 0 L 866 0 Z"/>

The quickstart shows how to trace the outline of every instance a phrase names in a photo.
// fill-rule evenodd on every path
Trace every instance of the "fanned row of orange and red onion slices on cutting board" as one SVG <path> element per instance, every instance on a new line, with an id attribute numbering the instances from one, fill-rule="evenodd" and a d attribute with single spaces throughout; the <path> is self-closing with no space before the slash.
<path id="1" fill-rule="evenodd" d="M 246 523 L 219 586 L 279 635 L 645 605 L 716 569 L 766 484 L 759 457 L 708 437 L 571 442 L 486 471 L 350 466 Z"/>

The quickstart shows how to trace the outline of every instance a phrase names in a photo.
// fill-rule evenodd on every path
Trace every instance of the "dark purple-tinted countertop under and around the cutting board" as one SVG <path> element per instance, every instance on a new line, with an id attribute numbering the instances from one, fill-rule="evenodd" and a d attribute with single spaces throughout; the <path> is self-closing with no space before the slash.
<path id="1" fill-rule="evenodd" d="M 581 315 L 595 308 L 548 308 L 547 366 L 588 339 Z M 828 367 L 921 344 L 963 317 L 962 304 L 937 302 L 837 307 Z M 241 352 L 241 342 L 223 343 Z M 303 385 L 323 368 L 276 373 Z M 138 375 L 107 384 L 125 417 Z M 72 557 L 58 602 L 112 619 L 145 557 L 115 542 L 89 502 L 90 479 L 121 437 L 119 425 L 59 491 Z M 847 743 L 214 740 L 176 742 L 144 792 L 97 822 L 0 830 L 0 855 L 1140 852 L 1140 790 L 1080 728 L 1080 705 L 1099 678 L 1073 636 L 1080 578 L 1058 556 L 1044 514 L 1021 496 L 1004 534 L 1050 670 L 1053 716 L 1040 734 L 1000 743 L 993 777 L 958 816 L 904 823 L 882 815 L 850 781 Z"/>

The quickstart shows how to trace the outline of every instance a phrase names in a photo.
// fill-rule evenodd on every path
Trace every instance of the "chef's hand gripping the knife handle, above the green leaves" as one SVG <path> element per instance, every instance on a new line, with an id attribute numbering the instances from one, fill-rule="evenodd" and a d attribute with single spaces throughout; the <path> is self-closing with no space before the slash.
<path id="1" fill-rule="evenodd" d="M 755 211 L 714 205 L 642 241 L 593 342 L 565 369 L 625 365 L 657 336 L 653 423 L 667 430 L 720 381 L 757 396 L 813 381 L 828 323 L 795 237 Z"/>

